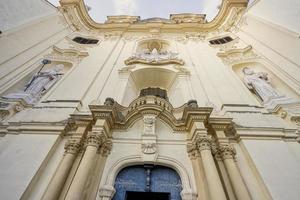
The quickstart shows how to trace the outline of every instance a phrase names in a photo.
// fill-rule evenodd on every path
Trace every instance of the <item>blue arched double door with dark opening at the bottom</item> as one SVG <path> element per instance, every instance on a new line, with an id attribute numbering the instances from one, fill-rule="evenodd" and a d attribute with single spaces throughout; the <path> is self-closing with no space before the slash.
<path id="1" fill-rule="evenodd" d="M 181 200 L 181 180 L 171 168 L 136 165 L 122 169 L 115 181 L 113 200 Z"/>

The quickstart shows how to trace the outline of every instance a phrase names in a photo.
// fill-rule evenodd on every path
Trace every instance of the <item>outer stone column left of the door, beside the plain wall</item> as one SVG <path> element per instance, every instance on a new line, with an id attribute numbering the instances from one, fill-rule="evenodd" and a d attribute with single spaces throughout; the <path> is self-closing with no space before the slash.
<path id="1" fill-rule="evenodd" d="M 75 133 L 75 135 L 78 136 L 71 137 L 66 142 L 64 156 L 42 197 L 43 200 L 58 199 L 68 178 L 69 172 L 71 171 L 74 160 L 81 148 L 81 135 L 85 132 L 86 126 L 87 125 L 79 126 Z"/>

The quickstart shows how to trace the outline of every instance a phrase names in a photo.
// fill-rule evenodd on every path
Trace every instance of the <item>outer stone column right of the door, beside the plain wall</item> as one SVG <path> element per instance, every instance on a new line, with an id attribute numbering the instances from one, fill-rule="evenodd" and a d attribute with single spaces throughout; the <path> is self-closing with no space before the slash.
<path id="1" fill-rule="evenodd" d="M 230 144 L 221 144 L 219 147 L 219 151 L 222 155 L 223 162 L 230 177 L 237 199 L 250 200 L 251 197 L 249 195 L 247 187 L 234 161 L 234 156 L 236 154 L 234 147 Z"/>

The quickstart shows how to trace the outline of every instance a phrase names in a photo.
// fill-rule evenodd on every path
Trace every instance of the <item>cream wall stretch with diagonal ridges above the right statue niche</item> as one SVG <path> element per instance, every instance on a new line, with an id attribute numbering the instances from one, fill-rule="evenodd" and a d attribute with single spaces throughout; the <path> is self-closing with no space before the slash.
<path id="1" fill-rule="evenodd" d="M 245 24 L 236 34 L 263 56 L 269 70 L 299 94 L 300 40 L 297 35 L 251 14 L 246 14 Z"/>

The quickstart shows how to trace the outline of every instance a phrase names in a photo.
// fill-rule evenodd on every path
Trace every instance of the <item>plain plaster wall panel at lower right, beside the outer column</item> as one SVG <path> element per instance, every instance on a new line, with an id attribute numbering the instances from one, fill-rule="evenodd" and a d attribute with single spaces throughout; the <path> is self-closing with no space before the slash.
<path id="1" fill-rule="evenodd" d="M 299 199 L 300 161 L 288 144 L 280 140 L 243 140 L 243 143 L 272 197 Z"/>

